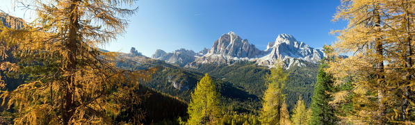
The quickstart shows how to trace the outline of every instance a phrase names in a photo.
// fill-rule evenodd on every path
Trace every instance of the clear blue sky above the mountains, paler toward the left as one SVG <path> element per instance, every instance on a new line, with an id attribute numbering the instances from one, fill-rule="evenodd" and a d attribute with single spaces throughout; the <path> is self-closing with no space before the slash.
<path id="1" fill-rule="evenodd" d="M 229 31 L 262 50 L 280 33 L 321 48 L 336 40 L 330 31 L 346 26 L 331 21 L 339 5 L 340 0 L 139 0 L 127 32 L 102 48 L 128 52 L 136 47 L 145 56 L 156 49 L 197 52 L 211 48 Z M 10 2 L 0 9 L 22 17 L 22 12 L 16 12 L 21 10 L 10 9 Z M 28 14 L 22 18 L 33 19 Z"/>

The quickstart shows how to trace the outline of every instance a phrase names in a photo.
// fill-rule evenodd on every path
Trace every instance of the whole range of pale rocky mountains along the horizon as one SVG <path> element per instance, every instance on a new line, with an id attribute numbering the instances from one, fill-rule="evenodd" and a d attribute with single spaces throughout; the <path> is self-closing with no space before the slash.
<path id="1" fill-rule="evenodd" d="M 167 63 L 176 63 L 181 67 L 200 67 L 202 64 L 232 64 L 247 60 L 258 65 L 273 67 L 281 58 L 289 68 L 292 65 L 306 66 L 305 62 L 317 63 L 325 54 L 320 49 L 309 47 L 304 42 L 296 40 L 293 35 L 280 34 L 274 42 L 268 42 L 266 50 L 259 50 L 248 40 L 236 33 L 225 33 L 215 40 L 211 49 L 203 49 L 199 53 L 191 50 L 179 49 L 166 53 L 158 49 L 152 58 L 164 60 Z"/>

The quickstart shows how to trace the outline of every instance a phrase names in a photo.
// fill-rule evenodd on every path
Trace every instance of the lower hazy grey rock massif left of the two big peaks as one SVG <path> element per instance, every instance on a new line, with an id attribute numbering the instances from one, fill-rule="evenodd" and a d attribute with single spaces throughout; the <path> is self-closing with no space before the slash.
<path id="1" fill-rule="evenodd" d="M 165 51 L 158 49 L 152 55 L 152 58 L 157 60 L 164 60 L 167 63 L 175 63 L 180 67 L 184 67 L 190 62 L 195 61 L 196 53 L 192 50 L 178 49 L 172 53 L 165 53 Z"/>

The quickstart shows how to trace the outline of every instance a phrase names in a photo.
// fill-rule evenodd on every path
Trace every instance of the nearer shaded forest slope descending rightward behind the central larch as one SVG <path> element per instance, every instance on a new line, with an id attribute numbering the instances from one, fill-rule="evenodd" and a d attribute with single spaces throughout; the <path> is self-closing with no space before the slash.
<path id="1" fill-rule="evenodd" d="M 190 100 L 191 92 L 193 92 L 197 82 L 200 81 L 203 76 L 203 73 L 176 67 L 145 56 L 129 56 L 129 54 L 121 54 L 120 60 L 122 61 L 119 61 L 117 66 L 129 70 L 159 67 L 158 72 L 154 74 L 152 81 L 146 83 L 145 86 L 170 94 L 174 97 L 179 97 L 179 99 L 183 99 L 184 101 Z M 213 77 L 212 79 L 218 86 L 218 90 L 220 91 L 220 94 L 222 94 L 222 100 L 225 105 L 230 103 L 245 103 L 245 101 L 259 102 L 259 98 L 256 95 L 246 92 L 241 86 L 234 85 L 228 81 L 222 81 L 220 78 Z M 247 107 L 250 106 L 239 106 L 237 110 L 248 112 L 257 109 L 258 106 L 256 106 L 256 108 Z"/>

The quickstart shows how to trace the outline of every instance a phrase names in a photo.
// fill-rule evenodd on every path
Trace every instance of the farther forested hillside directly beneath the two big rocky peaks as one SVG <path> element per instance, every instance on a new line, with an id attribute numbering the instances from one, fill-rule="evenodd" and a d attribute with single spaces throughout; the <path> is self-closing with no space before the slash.
<path id="1" fill-rule="evenodd" d="M 302 63 L 307 63 L 303 61 Z M 309 67 L 293 66 L 288 69 L 288 81 L 286 83 L 286 92 L 288 103 L 288 110 L 291 110 L 298 96 L 302 96 L 306 105 L 311 103 L 311 96 L 313 95 L 314 84 L 316 83 L 316 76 L 318 72 L 318 65 L 307 63 Z M 241 61 L 232 65 L 202 65 L 198 69 L 199 72 L 206 72 L 211 76 L 221 78 L 223 81 L 229 81 L 234 85 L 241 87 L 242 90 L 254 94 L 257 97 L 263 96 L 263 91 L 266 89 L 266 74 L 270 74 L 268 67 L 262 67 L 252 62 Z M 260 103 L 257 101 L 256 103 Z"/>

